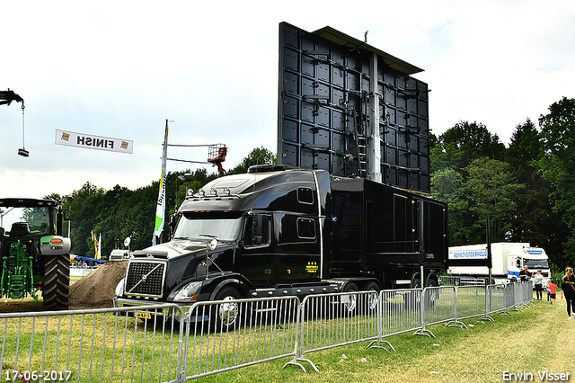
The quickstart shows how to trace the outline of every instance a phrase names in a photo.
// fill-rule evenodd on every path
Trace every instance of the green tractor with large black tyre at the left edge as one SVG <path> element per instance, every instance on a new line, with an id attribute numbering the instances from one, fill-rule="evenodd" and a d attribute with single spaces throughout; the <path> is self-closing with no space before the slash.
<path id="1" fill-rule="evenodd" d="M 62 236 L 62 209 L 54 200 L 0 199 L 0 297 L 38 301 L 66 310 L 70 238 Z"/>

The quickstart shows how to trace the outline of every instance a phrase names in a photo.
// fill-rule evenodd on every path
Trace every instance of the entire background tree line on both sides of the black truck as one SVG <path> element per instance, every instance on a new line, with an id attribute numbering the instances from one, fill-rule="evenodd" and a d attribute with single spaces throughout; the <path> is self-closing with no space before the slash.
<path id="1" fill-rule="evenodd" d="M 544 247 L 555 268 L 575 264 L 575 99 L 553 103 L 538 126 L 529 119 L 518 124 L 507 147 L 481 122 L 460 120 L 439 136 L 430 134 L 429 153 L 431 195 L 449 208 L 449 245 L 485 243 L 489 218 L 492 242 L 529 242 Z M 228 174 L 275 161 L 270 150 L 255 148 Z M 188 188 L 198 191 L 217 176 L 205 168 L 169 172 L 166 217 Z M 94 232 L 107 256 L 127 236 L 131 249 L 151 245 L 158 188 L 154 182 L 106 191 L 84 183 L 66 198 L 48 198 L 68 209 L 73 254 L 93 257 Z"/>

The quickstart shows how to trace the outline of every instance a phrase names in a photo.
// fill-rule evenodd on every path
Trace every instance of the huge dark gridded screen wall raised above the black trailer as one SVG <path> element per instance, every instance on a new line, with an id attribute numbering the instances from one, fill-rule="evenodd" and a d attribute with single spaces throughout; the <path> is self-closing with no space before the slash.
<path id="1" fill-rule="evenodd" d="M 428 85 L 410 76 L 420 71 L 330 27 L 280 23 L 278 163 L 369 178 L 374 97 L 381 181 L 429 192 Z"/>

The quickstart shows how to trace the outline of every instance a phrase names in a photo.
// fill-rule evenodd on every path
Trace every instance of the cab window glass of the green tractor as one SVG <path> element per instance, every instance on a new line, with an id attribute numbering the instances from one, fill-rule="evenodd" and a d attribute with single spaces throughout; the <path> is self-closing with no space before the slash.
<path id="1" fill-rule="evenodd" d="M 46 207 L 0 209 L 0 233 L 4 236 L 44 236 L 49 234 L 49 224 Z"/>

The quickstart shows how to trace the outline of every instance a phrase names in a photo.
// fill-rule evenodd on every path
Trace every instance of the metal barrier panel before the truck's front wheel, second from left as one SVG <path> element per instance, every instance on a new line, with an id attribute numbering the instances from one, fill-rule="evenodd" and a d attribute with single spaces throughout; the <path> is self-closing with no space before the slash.
<path id="1" fill-rule="evenodd" d="M 184 380 L 296 358 L 299 306 L 296 297 L 197 303 L 186 316 Z"/>

